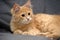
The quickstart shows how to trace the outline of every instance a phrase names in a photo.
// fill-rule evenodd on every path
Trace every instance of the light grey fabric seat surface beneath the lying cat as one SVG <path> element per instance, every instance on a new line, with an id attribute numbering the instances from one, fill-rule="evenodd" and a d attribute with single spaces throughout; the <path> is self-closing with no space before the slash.
<path id="1" fill-rule="evenodd" d="M 13 35 L 8 33 L 0 33 L 0 40 L 52 40 L 44 36 L 30 36 L 30 35 Z"/>

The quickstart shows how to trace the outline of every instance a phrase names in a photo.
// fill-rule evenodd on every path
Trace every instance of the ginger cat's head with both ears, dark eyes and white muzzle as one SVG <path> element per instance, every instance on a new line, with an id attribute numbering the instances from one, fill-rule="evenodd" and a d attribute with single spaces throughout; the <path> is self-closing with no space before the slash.
<path id="1" fill-rule="evenodd" d="M 18 4 L 14 4 L 11 9 L 12 18 L 21 24 L 28 24 L 33 19 L 33 12 L 31 8 L 31 2 L 28 0 L 26 4 L 20 6 Z"/>

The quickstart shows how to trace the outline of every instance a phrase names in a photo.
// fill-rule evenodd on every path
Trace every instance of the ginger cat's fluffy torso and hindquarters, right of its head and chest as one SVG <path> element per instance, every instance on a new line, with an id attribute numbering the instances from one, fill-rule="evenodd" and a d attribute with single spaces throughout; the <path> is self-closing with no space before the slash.
<path id="1" fill-rule="evenodd" d="M 42 35 L 47 37 L 60 36 L 60 15 L 37 14 L 36 20 L 40 23 Z"/>

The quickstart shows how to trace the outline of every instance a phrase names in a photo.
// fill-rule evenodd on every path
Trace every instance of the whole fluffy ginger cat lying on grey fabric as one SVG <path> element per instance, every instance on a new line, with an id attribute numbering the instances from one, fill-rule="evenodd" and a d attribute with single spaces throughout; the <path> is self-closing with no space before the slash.
<path id="1" fill-rule="evenodd" d="M 33 14 L 31 2 L 11 9 L 11 30 L 14 34 L 44 35 L 60 37 L 60 15 Z"/>

